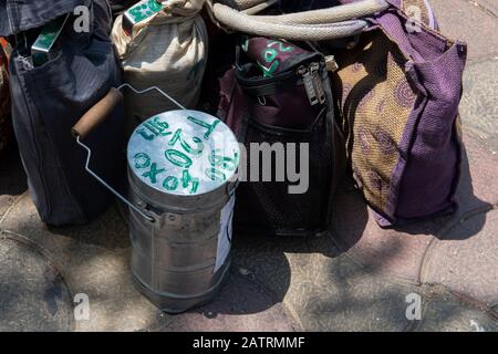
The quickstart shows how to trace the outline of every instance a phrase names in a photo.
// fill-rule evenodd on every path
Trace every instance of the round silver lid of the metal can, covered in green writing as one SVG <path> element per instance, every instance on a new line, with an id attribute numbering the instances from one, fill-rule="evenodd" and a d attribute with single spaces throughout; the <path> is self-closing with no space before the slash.
<path id="1" fill-rule="evenodd" d="M 218 118 L 197 111 L 170 111 L 138 125 L 128 142 L 129 171 L 166 194 L 199 195 L 231 181 L 238 142 Z"/>

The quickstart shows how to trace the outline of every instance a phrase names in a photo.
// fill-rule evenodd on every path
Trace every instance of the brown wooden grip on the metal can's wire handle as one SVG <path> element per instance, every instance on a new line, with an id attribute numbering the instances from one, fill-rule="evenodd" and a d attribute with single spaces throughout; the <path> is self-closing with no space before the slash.
<path id="1" fill-rule="evenodd" d="M 120 90 L 112 87 L 104 98 L 90 108 L 71 129 L 74 136 L 84 138 L 111 114 L 114 107 L 123 101 Z"/>

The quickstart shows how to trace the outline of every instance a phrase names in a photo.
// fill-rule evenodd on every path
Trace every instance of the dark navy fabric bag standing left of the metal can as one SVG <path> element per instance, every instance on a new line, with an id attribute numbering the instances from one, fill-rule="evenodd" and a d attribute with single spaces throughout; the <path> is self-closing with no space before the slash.
<path id="1" fill-rule="evenodd" d="M 33 1 L 27 14 L 38 9 L 39 2 Z M 44 8 L 65 13 L 72 12 L 75 1 L 43 3 Z M 10 62 L 12 121 L 31 197 L 41 219 L 49 225 L 89 222 L 113 201 L 112 195 L 85 171 L 85 152 L 71 135 L 80 117 L 121 82 L 108 39 L 108 6 L 105 1 L 86 4 L 91 10 L 90 33 L 76 33 L 66 25 L 59 40 L 60 52 L 41 66 L 33 67 L 25 58 L 30 44 L 25 45 L 23 39 L 31 38 L 31 31 L 11 33 L 17 34 Z M 61 7 L 63 11 L 59 11 Z M 32 25 L 25 19 L 38 22 Z M 25 29 L 42 25 L 40 19 L 14 18 L 14 23 Z M 123 107 L 116 107 L 86 140 L 98 152 L 92 168 L 110 183 L 117 183 L 123 173 L 117 157 L 123 148 Z"/>

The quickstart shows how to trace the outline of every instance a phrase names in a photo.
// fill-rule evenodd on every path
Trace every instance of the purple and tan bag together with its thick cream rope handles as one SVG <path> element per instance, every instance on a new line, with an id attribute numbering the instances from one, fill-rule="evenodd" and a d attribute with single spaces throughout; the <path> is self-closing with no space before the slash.
<path id="1" fill-rule="evenodd" d="M 454 211 L 467 46 L 437 31 L 427 1 L 295 0 L 281 8 L 295 13 L 253 15 L 257 3 L 269 2 L 250 1 L 243 12 L 215 4 L 214 13 L 231 30 L 318 41 L 335 56 L 332 90 L 347 157 L 378 223 Z"/>

